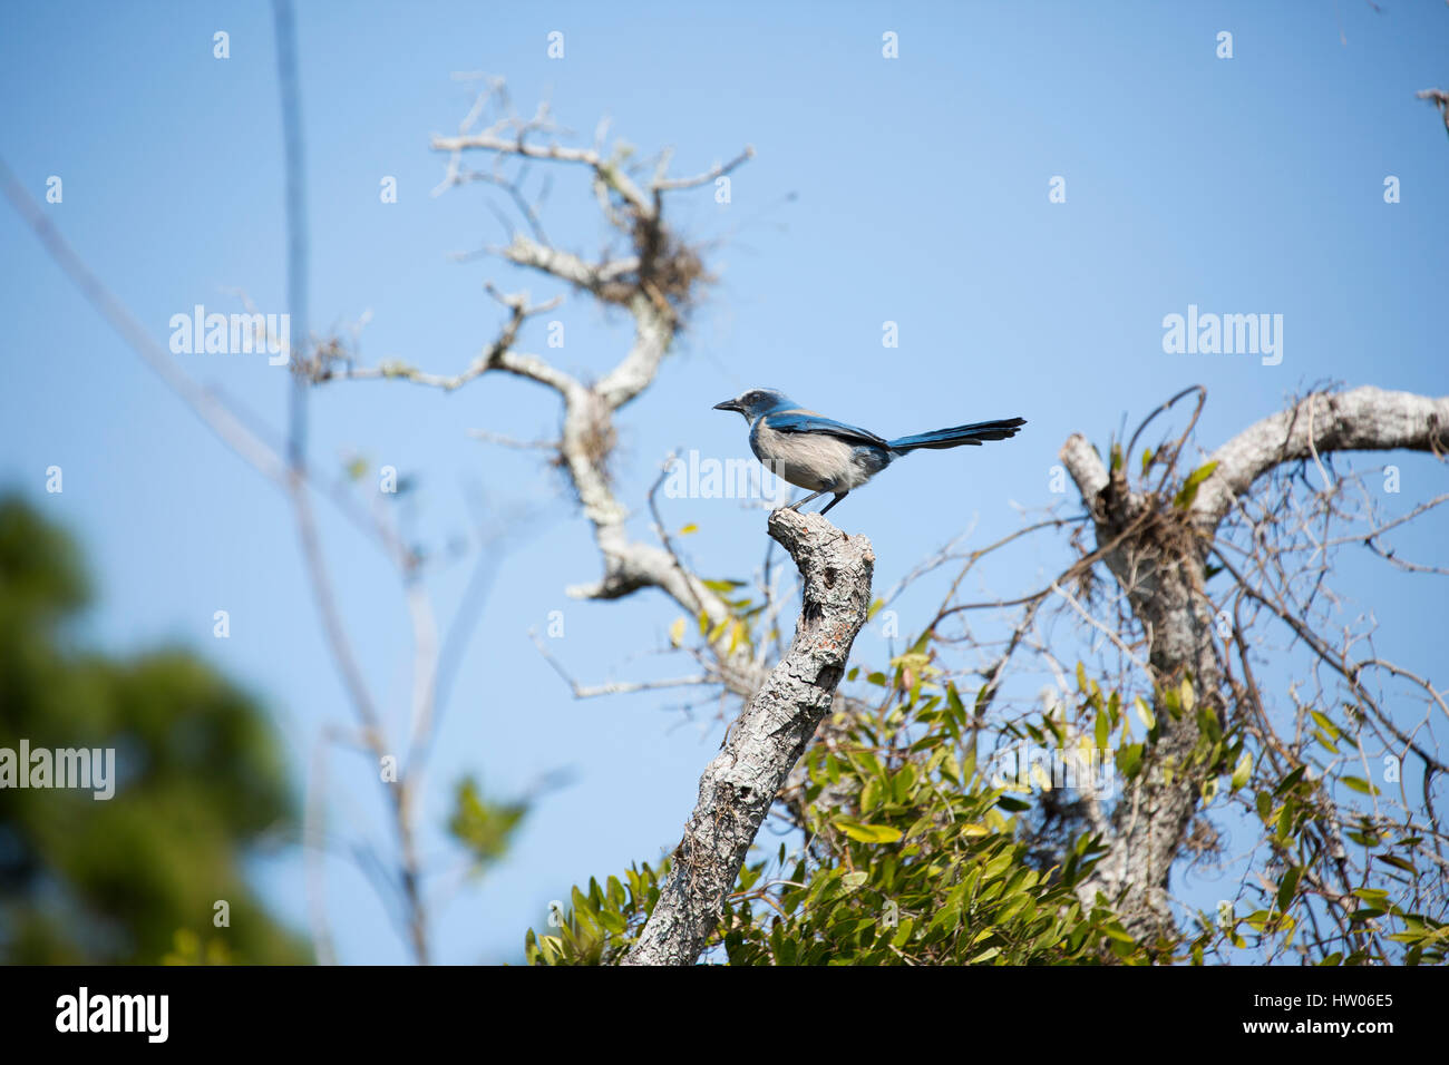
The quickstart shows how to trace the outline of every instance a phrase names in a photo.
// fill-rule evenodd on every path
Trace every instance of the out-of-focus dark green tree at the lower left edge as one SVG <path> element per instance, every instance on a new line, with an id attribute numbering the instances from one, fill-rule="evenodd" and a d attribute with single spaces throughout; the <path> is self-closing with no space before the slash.
<path id="1" fill-rule="evenodd" d="M 0 788 L 0 961 L 309 961 L 241 868 L 290 832 L 262 710 L 183 651 L 78 649 L 67 627 L 87 600 L 70 536 L 0 498 L 0 748 L 116 751 L 110 800 Z"/>

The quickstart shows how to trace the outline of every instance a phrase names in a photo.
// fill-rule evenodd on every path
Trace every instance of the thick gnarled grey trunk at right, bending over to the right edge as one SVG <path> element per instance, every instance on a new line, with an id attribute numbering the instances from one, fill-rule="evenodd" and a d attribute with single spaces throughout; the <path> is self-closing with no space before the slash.
<path id="1" fill-rule="evenodd" d="M 1216 640 L 1214 606 L 1203 590 L 1206 559 L 1219 526 L 1253 483 L 1295 461 L 1321 461 L 1340 451 L 1445 452 L 1449 397 L 1433 398 L 1374 387 L 1314 393 L 1248 427 L 1210 458 L 1217 465 L 1195 498 L 1174 501 L 1158 490 L 1133 488 L 1123 462 L 1113 468 L 1081 435 L 1061 459 L 1091 511 L 1098 552 L 1126 594 L 1148 636 L 1148 675 L 1159 693 L 1190 680 L 1197 700 L 1226 719 L 1232 684 Z M 1177 446 L 1172 459 L 1177 458 Z M 1182 765 L 1200 726 L 1194 713 L 1164 713 L 1165 727 L 1130 781 L 1111 819 L 1107 855 L 1080 890 L 1098 891 L 1119 907 L 1136 936 L 1169 932 L 1168 875 L 1198 806 L 1190 774 L 1162 772 Z"/>

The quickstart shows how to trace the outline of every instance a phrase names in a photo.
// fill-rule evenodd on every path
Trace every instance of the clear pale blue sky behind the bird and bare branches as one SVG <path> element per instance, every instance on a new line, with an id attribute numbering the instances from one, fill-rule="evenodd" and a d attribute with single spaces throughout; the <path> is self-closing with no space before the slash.
<path id="1" fill-rule="evenodd" d="M 165 341 L 194 304 L 264 309 L 284 298 L 284 213 L 275 49 L 265 4 L 59 3 L 9 6 L 0 154 L 91 268 Z M 212 55 L 216 30 L 230 58 Z M 546 35 L 565 35 L 562 59 Z M 884 59 L 881 35 L 898 33 Z M 1233 33 L 1233 58 L 1216 36 Z M 620 417 L 620 496 L 636 511 L 671 449 L 748 455 L 743 426 L 710 406 L 772 385 L 887 436 L 1022 414 L 1010 445 L 929 452 L 851 497 L 832 519 L 868 533 L 878 587 L 975 523 L 974 543 L 1009 532 L 1014 506 L 1045 507 L 1071 432 L 1104 445 L 1179 388 L 1201 383 L 1200 438 L 1216 445 L 1324 381 L 1442 394 L 1449 381 L 1443 293 L 1449 139 L 1420 88 L 1449 77 L 1449 9 L 1297 4 L 369 4 L 304 3 L 298 13 L 307 141 L 312 325 L 365 312 L 365 361 L 462 369 L 491 339 L 483 284 L 556 288 L 491 259 L 451 252 L 503 242 L 483 188 L 430 190 L 445 159 L 427 148 L 456 129 L 471 91 L 455 71 L 507 77 L 520 109 L 540 97 L 591 135 L 601 114 L 640 152 L 672 145 L 677 172 L 743 145 L 732 201 L 678 196 L 674 220 L 717 242 L 720 281 L 664 374 Z M 383 204 L 393 175 L 398 203 Z M 1061 175 L 1066 203 L 1048 201 Z M 1384 201 L 1384 180 L 1401 201 Z M 565 246 L 604 238 L 578 174 L 559 171 L 545 213 Z M 284 498 L 258 478 L 90 310 L 9 209 L 0 212 L 0 484 L 75 529 L 100 606 L 85 636 L 132 652 L 178 642 L 268 706 L 297 769 L 343 691 L 306 590 Z M 1284 359 L 1165 355 L 1162 317 L 1204 310 L 1284 316 Z M 627 342 L 625 322 L 568 300 L 568 369 L 597 374 Z M 900 346 L 881 346 L 882 322 Z M 525 348 L 548 351 L 543 333 Z M 185 355 L 183 367 L 280 426 L 287 375 L 264 359 Z M 572 781 L 530 816 L 510 861 L 435 907 L 440 961 L 516 958 L 551 898 L 671 845 L 720 740 L 711 707 L 693 719 L 664 694 L 574 701 L 527 639 L 562 610 L 552 652 L 582 681 L 690 672 L 658 652 L 677 610 L 658 594 L 567 600 L 597 552 L 556 475 L 536 455 L 480 443 L 468 429 L 536 439 L 556 427 L 552 397 L 485 378 L 445 396 L 396 383 L 330 385 L 312 403 L 310 458 L 352 454 L 417 478 L 410 507 L 430 545 L 465 533 L 469 500 L 511 529 L 446 707 L 422 807 L 430 868 L 451 855 L 438 830 L 451 784 L 478 772 L 491 794 L 559 769 Z M 43 491 L 45 469 L 65 491 Z M 1406 458 L 1404 493 L 1443 490 L 1442 467 Z M 323 536 L 358 655 L 390 720 L 406 720 L 409 629 L 378 552 L 323 506 Z M 646 511 L 645 511 L 646 514 Z M 691 558 L 745 577 L 764 520 L 729 500 L 669 500 L 675 527 L 700 525 Z M 646 516 L 636 516 L 648 535 Z M 1442 545 L 1442 517 L 1403 538 Z M 1056 548 L 985 568 L 993 594 L 1035 590 Z M 467 565 L 430 581 L 440 617 Z M 1381 569 L 1346 574 L 1403 656 L 1429 667 L 1442 593 Z M 900 604 L 923 620 L 940 588 Z M 229 640 L 212 638 L 214 610 Z M 888 643 L 867 630 L 856 658 Z M 335 813 L 384 848 L 369 767 L 333 758 Z M 356 833 L 354 833 L 356 835 Z M 296 852 L 258 866 L 277 911 L 304 923 Z M 439 891 L 440 878 L 436 884 Z M 341 956 L 403 961 L 361 875 L 329 865 Z M 1208 890 L 1210 891 L 1210 890 Z"/>

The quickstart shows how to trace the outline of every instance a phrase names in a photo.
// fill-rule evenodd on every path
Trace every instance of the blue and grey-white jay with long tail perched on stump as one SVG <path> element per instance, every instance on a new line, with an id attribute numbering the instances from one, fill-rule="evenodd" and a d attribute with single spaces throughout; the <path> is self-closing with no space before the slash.
<path id="1" fill-rule="evenodd" d="M 788 510 L 798 511 L 810 500 L 833 493 L 835 498 L 820 509 L 822 514 L 901 455 L 922 448 L 939 451 L 1006 440 L 1026 425 L 1024 417 L 1007 417 L 887 440 L 867 429 L 806 410 L 778 388 L 748 388 L 732 400 L 716 403 L 714 410 L 743 414 L 749 422 L 749 448 L 755 458 L 777 477 L 811 491 L 791 503 Z"/>

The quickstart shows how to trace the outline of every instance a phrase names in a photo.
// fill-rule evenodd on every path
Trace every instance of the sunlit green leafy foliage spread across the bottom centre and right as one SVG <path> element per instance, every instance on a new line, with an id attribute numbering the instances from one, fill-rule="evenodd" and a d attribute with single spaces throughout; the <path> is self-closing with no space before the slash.
<path id="1" fill-rule="evenodd" d="M 1190 480 L 1191 500 L 1211 468 Z M 1214 848 L 1207 819 L 1233 803 L 1262 826 L 1266 855 L 1216 914 L 1197 913 L 1197 927 L 1151 943 L 1135 942 L 1107 900 L 1084 906 L 1074 887 L 1103 853 L 1037 772 L 1007 782 L 977 765 L 981 693 L 974 698 L 936 664 L 930 635 L 916 639 L 885 669 L 853 665 L 848 684 L 862 684 L 880 709 L 842 719 L 829 748 L 804 755 L 807 784 L 791 817 L 796 845 L 758 849 L 740 871 L 704 959 L 732 965 L 940 965 L 1264 961 L 1297 956 L 1306 964 L 1436 964 L 1449 946 L 1449 924 L 1432 887 L 1423 842 L 1391 832 L 1364 813 L 1337 830 L 1345 807 L 1330 801 L 1330 782 L 1306 762 L 1284 764 L 1281 749 L 1250 745 L 1237 716 L 1224 717 L 1201 698 L 1194 678 L 1149 696 L 1106 691 L 1077 665 L 1074 707 L 1056 706 L 1000 726 L 1003 742 L 1030 740 L 1055 751 L 1114 751 L 1122 787 L 1158 774 L 1190 782 L 1200 794 L 1203 851 Z M 1352 727 L 1311 710 L 1306 743 L 1329 753 L 1352 751 Z M 1350 714 L 1350 722 L 1352 722 Z M 1191 748 L 1159 743 L 1190 722 Z M 1358 777 L 1337 775 L 1349 795 L 1378 795 Z M 1033 797 L 1032 791 L 1037 791 Z M 1045 801 L 1052 795 L 1052 801 Z M 1051 816 L 1048 816 L 1048 807 Z M 1046 824 L 1052 820 L 1052 829 Z M 1356 865 L 1369 884 L 1343 898 L 1335 880 L 1335 845 L 1364 852 Z M 807 840 L 801 843 L 801 840 Z M 530 964 L 614 964 L 643 927 L 664 868 L 635 866 L 623 881 L 574 890 L 556 930 L 527 933 Z M 1253 895 L 1258 895 L 1255 900 Z M 1243 901 L 1248 906 L 1240 906 Z M 1439 916 L 1427 913 L 1440 906 Z M 1246 909 L 1240 914 L 1237 909 Z M 1190 916 L 1191 920 L 1191 916 Z M 1304 935 L 1304 929 L 1313 936 Z M 1307 942 L 1306 942 L 1307 940 Z M 1250 952 L 1250 953 L 1239 953 Z"/>

